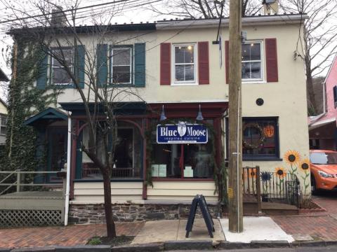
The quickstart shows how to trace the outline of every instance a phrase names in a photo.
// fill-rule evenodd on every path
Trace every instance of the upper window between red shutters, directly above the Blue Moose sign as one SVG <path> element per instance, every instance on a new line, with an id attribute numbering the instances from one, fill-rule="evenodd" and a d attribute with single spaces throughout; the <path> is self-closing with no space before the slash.
<path id="1" fill-rule="evenodd" d="M 196 45 L 173 45 L 173 84 L 196 83 Z"/>

